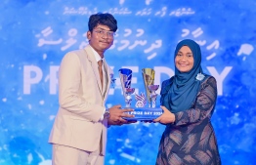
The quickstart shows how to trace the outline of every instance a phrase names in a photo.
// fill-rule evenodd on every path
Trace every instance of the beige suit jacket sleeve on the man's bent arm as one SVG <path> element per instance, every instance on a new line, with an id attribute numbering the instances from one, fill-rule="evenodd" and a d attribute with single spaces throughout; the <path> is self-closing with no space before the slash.
<path id="1" fill-rule="evenodd" d="M 88 103 L 81 92 L 81 63 L 75 53 L 67 53 L 59 70 L 59 103 L 65 110 L 89 121 L 97 122 L 104 106 Z"/>

